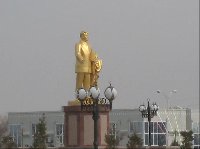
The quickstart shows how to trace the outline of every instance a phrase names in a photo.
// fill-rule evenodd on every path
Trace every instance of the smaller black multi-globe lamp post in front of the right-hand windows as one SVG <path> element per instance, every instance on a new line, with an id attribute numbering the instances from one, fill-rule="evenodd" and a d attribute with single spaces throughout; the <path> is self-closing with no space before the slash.
<path id="1" fill-rule="evenodd" d="M 143 104 L 140 105 L 139 107 L 139 111 L 142 113 L 142 117 L 144 118 L 148 118 L 148 122 L 149 122 L 149 146 L 151 146 L 151 118 L 153 118 L 154 116 L 157 115 L 157 111 L 158 111 L 158 105 L 156 103 L 153 103 L 152 106 L 150 107 L 149 105 L 149 99 L 147 99 L 147 107 Z"/>

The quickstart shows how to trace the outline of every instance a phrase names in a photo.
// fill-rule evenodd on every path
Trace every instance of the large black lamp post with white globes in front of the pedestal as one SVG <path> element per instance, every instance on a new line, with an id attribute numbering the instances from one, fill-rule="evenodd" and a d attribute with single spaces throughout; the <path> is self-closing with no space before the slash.
<path id="1" fill-rule="evenodd" d="M 76 97 L 81 103 L 81 111 L 92 112 L 92 119 L 94 120 L 94 149 L 98 149 L 98 120 L 99 107 L 104 107 L 105 110 L 112 110 L 112 102 L 116 98 L 117 90 L 108 86 L 104 91 L 105 98 L 100 98 L 100 90 L 97 86 L 93 86 L 86 91 L 80 88 L 76 91 Z"/>

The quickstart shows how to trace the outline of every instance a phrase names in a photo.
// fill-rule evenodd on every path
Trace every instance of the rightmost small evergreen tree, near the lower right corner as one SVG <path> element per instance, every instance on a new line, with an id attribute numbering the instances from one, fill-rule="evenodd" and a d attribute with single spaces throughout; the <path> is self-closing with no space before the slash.
<path id="1" fill-rule="evenodd" d="M 181 131 L 181 136 L 183 137 L 181 148 L 183 149 L 191 149 L 192 148 L 192 140 L 194 139 L 192 134 L 193 132 L 190 131 Z"/>

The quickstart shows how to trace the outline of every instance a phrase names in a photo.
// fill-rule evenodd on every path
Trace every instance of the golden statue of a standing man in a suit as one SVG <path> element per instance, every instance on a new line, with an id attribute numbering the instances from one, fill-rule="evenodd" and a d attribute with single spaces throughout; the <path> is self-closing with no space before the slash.
<path id="1" fill-rule="evenodd" d="M 76 89 L 89 90 L 91 86 L 97 86 L 102 61 L 98 59 L 97 54 L 88 43 L 88 32 L 80 33 L 80 41 L 75 45 L 75 55 Z"/>

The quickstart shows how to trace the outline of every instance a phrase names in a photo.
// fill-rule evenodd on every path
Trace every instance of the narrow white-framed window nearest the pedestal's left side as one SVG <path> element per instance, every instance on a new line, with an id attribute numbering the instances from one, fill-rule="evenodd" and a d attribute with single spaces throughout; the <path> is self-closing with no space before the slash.
<path id="1" fill-rule="evenodd" d="M 64 144 L 64 124 L 56 124 L 56 142 Z"/>

